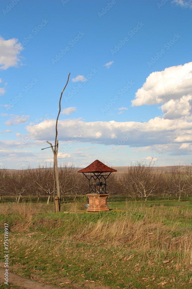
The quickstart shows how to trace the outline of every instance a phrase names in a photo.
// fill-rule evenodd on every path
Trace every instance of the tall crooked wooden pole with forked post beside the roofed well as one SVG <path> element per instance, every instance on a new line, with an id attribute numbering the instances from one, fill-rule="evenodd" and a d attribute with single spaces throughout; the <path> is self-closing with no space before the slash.
<path id="1" fill-rule="evenodd" d="M 70 73 L 69 73 L 70 75 Z M 68 78 L 67 78 L 67 82 L 61 92 L 61 95 L 60 95 L 60 99 L 59 99 L 59 112 L 58 112 L 58 116 L 57 116 L 57 119 L 56 119 L 56 125 L 55 125 L 55 131 L 56 131 L 56 134 L 55 134 L 55 145 L 54 145 L 54 148 L 53 148 L 53 145 L 51 142 L 48 142 L 47 140 L 47 143 L 50 144 L 51 148 L 52 148 L 52 151 L 53 151 L 53 178 L 54 178 L 54 186 L 53 186 L 53 195 L 54 195 L 54 212 L 60 212 L 60 189 L 59 189 L 59 175 L 58 175 L 58 165 L 57 165 L 57 153 L 58 153 L 58 147 L 59 147 L 59 144 L 58 144 L 58 140 L 57 140 L 57 123 L 58 123 L 58 118 L 59 118 L 59 114 L 60 114 L 60 111 L 61 111 L 61 98 L 62 98 L 62 94 L 68 84 L 68 81 L 69 81 L 69 75 L 68 75 Z M 56 185 L 56 186 L 55 186 Z M 55 196 L 55 187 L 57 187 L 57 197 Z M 55 202 L 58 202 L 57 204 Z"/>

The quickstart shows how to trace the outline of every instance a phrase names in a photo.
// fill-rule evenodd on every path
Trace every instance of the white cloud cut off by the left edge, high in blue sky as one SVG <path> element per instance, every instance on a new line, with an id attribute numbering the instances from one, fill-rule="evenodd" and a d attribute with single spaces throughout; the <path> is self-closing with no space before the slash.
<path id="1" fill-rule="evenodd" d="M 0 70 L 18 66 L 21 61 L 18 55 L 22 50 L 18 39 L 5 40 L 0 36 Z"/>

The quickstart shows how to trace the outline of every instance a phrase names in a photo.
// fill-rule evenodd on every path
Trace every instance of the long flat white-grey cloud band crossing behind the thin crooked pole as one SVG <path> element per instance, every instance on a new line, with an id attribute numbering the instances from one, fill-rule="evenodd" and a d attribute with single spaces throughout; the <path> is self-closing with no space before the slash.
<path id="1" fill-rule="evenodd" d="M 45 120 L 37 125 L 27 125 L 26 129 L 35 140 L 54 139 L 55 121 Z M 160 117 L 148 122 L 85 122 L 81 119 L 58 121 L 60 140 L 69 142 L 90 142 L 94 144 L 129 145 L 143 147 L 165 144 L 169 141 L 192 142 L 192 123 L 186 119 L 170 120 Z"/>

